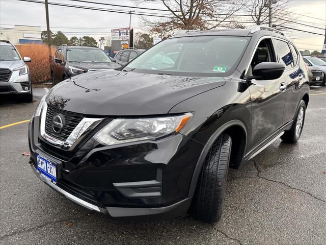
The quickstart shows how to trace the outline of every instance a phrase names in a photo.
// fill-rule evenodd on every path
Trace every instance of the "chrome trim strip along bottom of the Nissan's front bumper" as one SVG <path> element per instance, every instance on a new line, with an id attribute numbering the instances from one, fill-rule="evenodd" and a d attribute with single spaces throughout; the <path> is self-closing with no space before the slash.
<path id="1" fill-rule="evenodd" d="M 45 184 L 47 184 L 49 187 L 51 187 L 52 189 L 58 191 L 59 193 L 63 194 L 67 199 L 69 199 L 70 201 L 76 203 L 76 204 L 79 204 L 80 206 L 83 206 L 87 209 L 90 209 L 90 210 L 94 210 L 94 211 L 97 211 L 97 212 L 101 212 L 99 207 L 93 205 L 93 204 L 90 204 L 80 198 L 77 198 L 75 197 L 74 195 L 70 194 L 69 192 L 61 189 L 60 187 L 58 187 L 57 185 L 53 184 L 51 181 L 49 181 L 48 179 L 46 179 L 43 175 L 41 175 L 33 165 L 31 165 L 34 173 L 36 174 L 37 177 L 39 177 L 39 179 L 41 181 L 43 181 Z"/>

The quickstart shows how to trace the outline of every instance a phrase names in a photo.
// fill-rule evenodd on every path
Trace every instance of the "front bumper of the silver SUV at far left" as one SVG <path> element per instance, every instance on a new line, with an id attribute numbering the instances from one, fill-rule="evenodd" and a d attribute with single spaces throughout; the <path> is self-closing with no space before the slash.
<path id="1" fill-rule="evenodd" d="M 24 90 L 28 87 L 28 90 Z M 32 84 L 30 72 L 19 76 L 19 71 L 12 71 L 8 82 L 0 82 L 0 94 L 28 94 L 31 93 Z"/>

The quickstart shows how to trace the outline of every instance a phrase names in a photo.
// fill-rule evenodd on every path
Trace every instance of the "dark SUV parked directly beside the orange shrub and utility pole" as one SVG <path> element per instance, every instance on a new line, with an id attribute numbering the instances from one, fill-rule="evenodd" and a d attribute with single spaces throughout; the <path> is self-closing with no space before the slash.
<path id="1" fill-rule="evenodd" d="M 55 85 L 73 76 L 100 69 L 117 69 L 121 65 L 112 62 L 97 47 L 61 45 L 51 64 L 51 80 Z"/>

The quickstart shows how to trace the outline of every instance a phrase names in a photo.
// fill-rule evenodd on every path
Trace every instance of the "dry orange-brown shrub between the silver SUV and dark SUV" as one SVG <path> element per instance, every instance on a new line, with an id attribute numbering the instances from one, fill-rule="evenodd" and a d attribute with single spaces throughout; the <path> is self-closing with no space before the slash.
<path id="1" fill-rule="evenodd" d="M 44 83 L 51 78 L 47 45 L 23 44 L 16 45 L 16 48 L 22 58 L 30 57 L 32 59 L 32 62 L 27 63 L 27 65 L 30 68 L 33 83 Z M 52 57 L 55 52 L 55 48 L 52 48 Z"/>

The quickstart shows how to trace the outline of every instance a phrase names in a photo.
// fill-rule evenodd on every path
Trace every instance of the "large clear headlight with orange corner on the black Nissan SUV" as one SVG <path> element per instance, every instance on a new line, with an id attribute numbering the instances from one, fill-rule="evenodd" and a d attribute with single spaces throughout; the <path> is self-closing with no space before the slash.
<path id="1" fill-rule="evenodd" d="M 192 116 L 192 113 L 186 113 L 171 117 L 114 119 L 94 139 L 104 145 L 158 139 L 178 133 Z"/>

